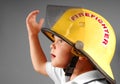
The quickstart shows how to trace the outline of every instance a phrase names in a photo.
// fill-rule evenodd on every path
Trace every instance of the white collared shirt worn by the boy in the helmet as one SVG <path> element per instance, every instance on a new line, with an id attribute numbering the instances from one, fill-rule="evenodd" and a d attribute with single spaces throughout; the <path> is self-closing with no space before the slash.
<path id="1" fill-rule="evenodd" d="M 46 64 L 46 72 L 55 84 L 108 84 L 98 70 L 83 73 L 70 81 L 62 68 L 53 67 L 50 62 Z"/>

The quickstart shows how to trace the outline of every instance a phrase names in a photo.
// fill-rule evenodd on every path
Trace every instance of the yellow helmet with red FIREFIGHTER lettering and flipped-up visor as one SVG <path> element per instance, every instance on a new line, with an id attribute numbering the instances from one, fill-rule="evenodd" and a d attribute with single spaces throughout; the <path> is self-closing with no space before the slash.
<path id="1" fill-rule="evenodd" d="M 109 22 L 85 8 L 50 5 L 49 12 L 52 14 L 48 14 L 46 20 L 49 20 L 47 25 L 51 25 L 51 29 L 42 28 L 42 32 L 52 41 L 55 34 L 72 46 L 79 41 L 82 47 L 78 50 L 113 84 L 115 80 L 110 63 L 115 52 L 116 37 Z"/>

